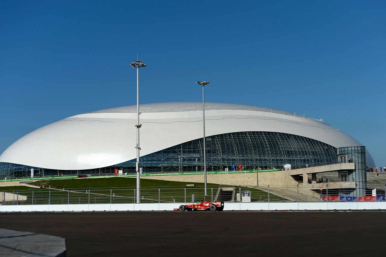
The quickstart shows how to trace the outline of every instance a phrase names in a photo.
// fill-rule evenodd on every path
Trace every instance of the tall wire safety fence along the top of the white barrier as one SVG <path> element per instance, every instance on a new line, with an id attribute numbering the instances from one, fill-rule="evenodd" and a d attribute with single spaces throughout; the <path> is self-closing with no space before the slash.
<path id="1" fill-rule="evenodd" d="M 1 190 L 1 188 L 0 188 Z M 192 203 L 200 200 L 225 202 L 323 202 L 323 201 L 386 201 L 386 185 L 349 183 L 344 188 L 325 187 L 151 187 L 141 188 L 141 203 Z M 0 205 L 74 205 L 135 203 L 138 190 L 130 188 L 31 188 L 0 191 Z"/>

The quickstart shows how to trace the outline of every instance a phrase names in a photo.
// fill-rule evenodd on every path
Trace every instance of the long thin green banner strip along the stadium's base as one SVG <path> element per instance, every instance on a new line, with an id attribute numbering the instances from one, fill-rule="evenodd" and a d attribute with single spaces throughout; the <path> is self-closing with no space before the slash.
<path id="1" fill-rule="evenodd" d="M 254 173 L 254 172 L 271 172 L 279 171 L 279 169 L 261 169 L 252 171 L 207 171 L 207 174 L 233 174 L 233 173 Z M 147 173 L 141 174 L 141 177 L 148 176 L 176 176 L 176 175 L 201 175 L 204 172 L 171 172 L 171 173 Z M 114 176 L 114 175 L 107 175 Z M 88 176 L 89 178 L 106 178 L 107 176 Z M 135 177 L 137 174 L 119 175 L 119 177 Z M 2 179 L 0 182 L 7 181 L 26 181 L 26 180 L 41 180 L 41 179 L 67 179 L 67 178 L 78 178 L 78 176 L 58 176 L 58 177 L 42 177 L 42 178 L 21 178 L 21 179 Z"/>

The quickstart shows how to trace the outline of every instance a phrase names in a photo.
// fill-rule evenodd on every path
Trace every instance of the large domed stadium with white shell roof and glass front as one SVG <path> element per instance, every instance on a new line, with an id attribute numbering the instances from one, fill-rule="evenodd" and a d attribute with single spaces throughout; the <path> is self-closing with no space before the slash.
<path id="1" fill-rule="evenodd" d="M 143 173 L 203 170 L 201 102 L 142 104 L 139 110 Z M 136 115 L 132 105 L 41 127 L 2 153 L 0 179 L 25 178 L 31 168 L 35 176 L 114 174 L 115 169 L 134 173 Z M 366 166 L 374 165 L 371 154 L 350 135 L 295 113 L 205 103 L 205 130 L 208 171 L 282 169 L 284 164 L 296 169 L 334 163 L 344 154 L 361 163 L 364 172 L 357 181 L 366 181 Z"/>

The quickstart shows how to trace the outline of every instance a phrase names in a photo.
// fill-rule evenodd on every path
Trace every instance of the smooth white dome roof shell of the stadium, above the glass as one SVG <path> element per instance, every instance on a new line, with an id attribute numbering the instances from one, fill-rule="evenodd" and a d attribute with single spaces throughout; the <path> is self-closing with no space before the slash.
<path id="1" fill-rule="evenodd" d="M 137 106 L 75 115 L 25 135 L 0 162 L 59 170 L 107 167 L 136 157 Z M 140 105 L 141 156 L 202 137 L 202 103 Z M 320 120 L 263 107 L 205 103 L 206 136 L 243 131 L 294 134 L 334 147 L 362 145 Z M 367 154 L 367 160 L 371 158 Z M 372 159 L 372 158 L 371 158 Z"/>

